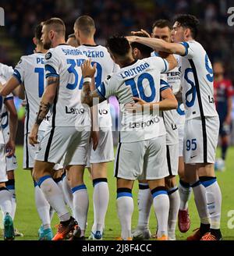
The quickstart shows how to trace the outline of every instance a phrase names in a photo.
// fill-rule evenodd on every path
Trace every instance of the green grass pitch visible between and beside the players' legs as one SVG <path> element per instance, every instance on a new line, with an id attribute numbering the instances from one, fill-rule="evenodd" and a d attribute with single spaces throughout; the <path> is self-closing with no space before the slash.
<path id="1" fill-rule="evenodd" d="M 37 209 L 34 203 L 34 184 L 30 177 L 30 172 L 24 171 L 21 166 L 23 162 L 23 148 L 18 146 L 16 148 L 16 156 L 18 160 L 19 168 L 16 170 L 16 199 L 17 199 L 17 209 L 15 226 L 24 234 L 23 237 L 16 237 L 16 240 L 37 240 L 37 229 L 41 225 L 40 219 L 37 215 Z M 230 148 L 226 163 L 225 172 L 218 172 L 218 183 L 222 190 L 222 234 L 224 240 L 234 240 L 234 229 L 229 229 L 228 222 L 231 222 L 228 212 L 233 210 L 234 212 L 234 148 Z M 90 208 L 88 212 L 88 226 L 86 231 L 86 236 L 89 236 L 90 229 L 93 224 L 93 203 L 92 194 L 93 187 L 89 179 L 88 172 L 85 172 L 85 183 L 87 185 L 87 190 L 90 198 Z M 108 165 L 108 184 L 110 190 L 110 201 L 108 205 L 108 212 L 105 220 L 105 240 L 115 240 L 115 237 L 120 235 L 120 224 L 116 212 L 115 197 L 115 178 L 113 177 L 113 162 Z M 133 213 L 132 229 L 137 226 L 137 183 L 134 185 L 133 189 L 133 199 L 135 203 L 135 209 Z M 234 215 L 233 215 L 234 217 Z M 197 215 L 197 210 L 195 208 L 193 196 L 190 199 L 190 219 L 191 227 L 187 233 L 179 233 L 176 227 L 176 237 L 177 240 L 186 240 L 186 236 L 190 235 L 193 229 L 199 226 L 199 219 Z M 55 224 L 58 224 L 58 218 L 55 215 L 51 227 L 55 233 Z M 234 219 L 232 221 L 232 226 L 234 226 Z M 154 218 L 154 212 L 151 209 L 151 221 L 150 221 L 151 232 L 155 232 L 156 219 Z M 2 238 L 1 238 L 2 239 Z"/>

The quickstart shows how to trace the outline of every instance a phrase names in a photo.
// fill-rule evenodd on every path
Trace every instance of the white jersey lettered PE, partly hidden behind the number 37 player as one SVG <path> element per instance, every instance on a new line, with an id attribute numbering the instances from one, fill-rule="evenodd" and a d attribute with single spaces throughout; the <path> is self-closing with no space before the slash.
<path id="1" fill-rule="evenodd" d="M 44 93 L 44 54 L 37 52 L 32 55 L 22 56 L 16 65 L 13 75 L 23 84 L 27 100 L 26 126 L 24 133 L 29 133 L 34 125 L 37 111 Z M 47 120 L 49 117 L 47 116 Z M 48 122 L 41 123 L 40 130 L 45 130 Z"/>

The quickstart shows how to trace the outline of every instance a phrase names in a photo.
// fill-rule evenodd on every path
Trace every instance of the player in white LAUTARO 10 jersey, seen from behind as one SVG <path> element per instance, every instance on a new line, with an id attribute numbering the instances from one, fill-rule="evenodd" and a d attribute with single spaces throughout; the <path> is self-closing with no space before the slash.
<path id="1" fill-rule="evenodd" d="M 117 212 L 122 226 L 120 240 L 131 240 L 131 218 L 133 214 L 132 188 L 134 180 L 148 180 L 154 197 L 154 212 L 158 219 L 158 240 L 167 240 L 168 194 L 165 190 L 166 168 L 165 126 L 159 112 L 126 112 L 126 105 L 134 104 L 133 96 L 146 101 L 158 102 L 159 110 L 177 107 L 177 101 L 168 85 L 160 86 L 160 73 L 176 66 L 176 60 L 167 62 L 161 58 L 135 61 L 132 48 L 126 37 L 108 39 L 108 50 L 120 70 L 90 91 L 90 78 L 96 71 L 90 61 L 83 65 L 82 101 L 92 106 L 94 98 L 105 101 L 116 95 L 121 104 L 122 130 L 115 159 L 117 178 Z M 168 57 L 169 58 L 169 57 Z M 168 59 L 169 60 L 169 59 Z M 174 61 L 175 60 L 175 61 Z M 156 167 L 157 166 L 157 167 Z"/>

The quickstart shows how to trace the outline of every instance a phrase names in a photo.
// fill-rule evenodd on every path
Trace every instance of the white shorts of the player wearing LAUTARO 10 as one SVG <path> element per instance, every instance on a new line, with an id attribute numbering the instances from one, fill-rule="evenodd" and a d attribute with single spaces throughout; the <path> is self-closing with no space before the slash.
<path id="1" fill-rule="evenodd" d="M 115 177 L 125 180 L 159 180 L 169 175 L 165 135 L 151 140 L 119 143 Z"/>

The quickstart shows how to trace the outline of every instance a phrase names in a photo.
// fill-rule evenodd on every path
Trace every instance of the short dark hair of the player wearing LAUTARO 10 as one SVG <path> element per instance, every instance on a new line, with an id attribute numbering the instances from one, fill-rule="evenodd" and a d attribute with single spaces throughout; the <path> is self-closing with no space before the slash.
<path id="1" fill-rule="evenodd" d="M 107 40 L 106 47 L 113 53 L 119 56 L 125 56 L 130 50 L 129 41 L 123 36 L 112 36 Z"/>

